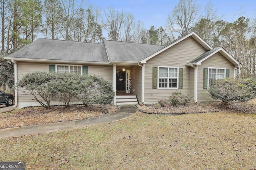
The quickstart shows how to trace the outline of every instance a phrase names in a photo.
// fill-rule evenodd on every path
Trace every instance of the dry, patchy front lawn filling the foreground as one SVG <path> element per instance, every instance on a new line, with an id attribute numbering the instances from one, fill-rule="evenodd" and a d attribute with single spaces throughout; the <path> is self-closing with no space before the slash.
<path id="1" fill-rule="evenodd" d="M 137 112 L 113 123 L 2 139 L 0 161 L 26 161 L 33 170 L 254 170 L 255 127 L 255 114 L 238 111 Z"/>

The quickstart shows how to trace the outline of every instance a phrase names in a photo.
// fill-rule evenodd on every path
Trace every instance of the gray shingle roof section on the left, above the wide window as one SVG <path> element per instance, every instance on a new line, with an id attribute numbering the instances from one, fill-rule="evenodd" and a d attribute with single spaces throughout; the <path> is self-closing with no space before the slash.
<path id="1" fill-rule="evenodd" d="M 108 63 L 104 44 L 43 38 L 7 57 Z"/>

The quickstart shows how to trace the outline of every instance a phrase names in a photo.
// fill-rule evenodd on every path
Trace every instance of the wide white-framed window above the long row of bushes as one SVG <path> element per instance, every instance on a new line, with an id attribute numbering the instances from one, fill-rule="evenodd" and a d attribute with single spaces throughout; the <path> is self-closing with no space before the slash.
<path id="1" fill-rule="evenodd" d="M 80 74 L 82 75 L 82 66 L 81 65 L 58 65 L 56 64 L 57 73 L 71 73 L 71 74 Z"/>

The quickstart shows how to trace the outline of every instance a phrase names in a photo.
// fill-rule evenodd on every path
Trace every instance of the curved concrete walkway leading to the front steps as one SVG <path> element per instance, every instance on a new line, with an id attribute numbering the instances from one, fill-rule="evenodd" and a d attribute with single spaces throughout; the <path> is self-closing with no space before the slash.
<path id="1" fill-rule="evenodd" d="M 37 133 L 49 133 L 49 132 L 73 129 L 78 127 L 87 127 L 91 125 L 97 125 L 100 123 L 118 121 L 118 120 L 125 119 L 132 116 L 134 113 L 136 113 L 136 111 L 138 111 L 138 108 L 135 105 L 119 106 L 118 111 L 110 115 L 101 115 L 98 117 L 91 117 L 88 119 L 80 119 L 80 120 L 74 120 L 74 121 L 48 123 L 44 125 L 0 129 L 0 139 L 37 134 Z"/>

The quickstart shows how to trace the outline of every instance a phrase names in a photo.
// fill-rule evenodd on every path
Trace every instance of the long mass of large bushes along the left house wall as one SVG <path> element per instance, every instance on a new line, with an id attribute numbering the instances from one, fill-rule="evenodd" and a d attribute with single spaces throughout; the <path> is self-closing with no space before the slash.
<path id="1" fill-rule="evenodd" d="M 41 106 L 50 109 L 50 102 L 59 99 L 69 107 L 76 97 L 85 106 L 88 104 L 110 104 L 114 98 L 112 83 L 102 77 L 77 74 L 55 74 L 36 71 L 25 74 L 18 82 L 25 94 L 33 96 Z M 38 97 L 41 98 L 38 98 Z"/>

